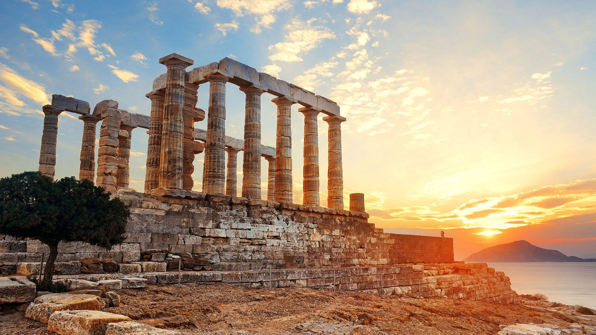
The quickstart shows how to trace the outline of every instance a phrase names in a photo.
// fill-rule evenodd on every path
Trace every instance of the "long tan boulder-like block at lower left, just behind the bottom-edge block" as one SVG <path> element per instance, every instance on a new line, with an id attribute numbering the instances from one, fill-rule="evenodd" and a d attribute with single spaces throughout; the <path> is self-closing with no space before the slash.
<path id="1" fill-rule="evenodd" d="M 54 293 L 37 297 L 25 311 L 25 317 L 48 323 L 50 315 L 65 310 L 98 311 L 104 308 L 105 302 L 101 297 L 91 294 Z"/>

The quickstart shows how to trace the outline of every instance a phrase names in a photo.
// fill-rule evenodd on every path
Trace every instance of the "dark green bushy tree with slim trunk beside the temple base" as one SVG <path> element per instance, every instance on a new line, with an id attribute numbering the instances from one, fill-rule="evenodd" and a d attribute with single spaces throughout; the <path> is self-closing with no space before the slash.
<path id="1" fill-rule="evenodd" d="M 0 179 L 0 233 L 49 246 L 42 285 L 51 284 L 60 241 L 109 249 L 124 241 L 129 215 L 122 200 L 110 199 L 110 193 L 87 179 L 53 181 L 37 171 Z"/>

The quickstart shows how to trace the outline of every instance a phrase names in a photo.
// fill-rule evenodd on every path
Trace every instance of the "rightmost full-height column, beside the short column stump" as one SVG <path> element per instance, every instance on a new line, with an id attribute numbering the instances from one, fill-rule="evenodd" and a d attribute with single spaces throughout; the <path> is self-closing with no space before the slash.
<path id="1" fill-rule="evenodd" d="M 345 117 L 325 116 L 329 125 L 329 163 L 327 169 L 327 207 L 343 209 L 342 122 Z"/>

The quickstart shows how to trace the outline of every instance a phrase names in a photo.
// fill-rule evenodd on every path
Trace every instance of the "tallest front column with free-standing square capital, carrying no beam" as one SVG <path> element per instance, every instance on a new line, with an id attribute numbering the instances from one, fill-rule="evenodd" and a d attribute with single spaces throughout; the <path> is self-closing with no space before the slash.
<path id="1" fill-rule="evenodd" d="M 184 69 L 193 65 L 194 61 L 181 55 L 171 54 L 160 58 L 159 63 L 167 67 L 159 187 L 182 190 Z"/>

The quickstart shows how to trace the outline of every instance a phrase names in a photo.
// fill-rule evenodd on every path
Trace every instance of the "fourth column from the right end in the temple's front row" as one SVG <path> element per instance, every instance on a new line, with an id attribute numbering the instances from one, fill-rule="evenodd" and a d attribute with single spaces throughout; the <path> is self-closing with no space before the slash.
<path id="1" fill-rule="evenodd" d="M 260 95 L 265 91 L 254 85 L 242 86 L 240 90 L 246 94 L 242 196 L 260 199 Z"/>

